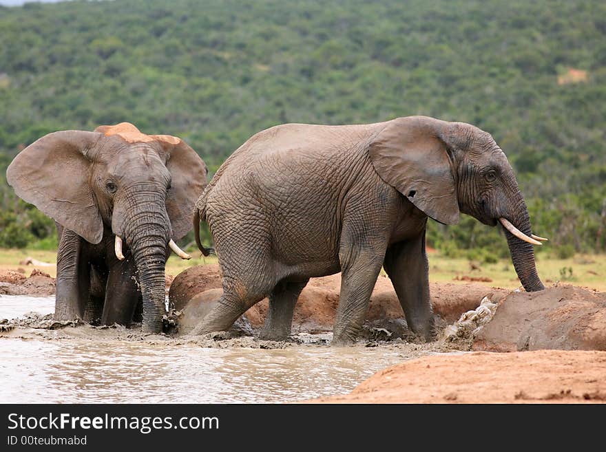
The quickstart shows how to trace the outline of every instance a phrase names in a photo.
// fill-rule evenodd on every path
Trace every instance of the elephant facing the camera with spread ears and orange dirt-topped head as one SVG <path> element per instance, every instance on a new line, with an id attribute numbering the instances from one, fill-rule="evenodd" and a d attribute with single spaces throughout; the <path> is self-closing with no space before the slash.
<path id="1" fill-rule="evenodd" d="M 162 330 L 165 263 L 191 230 L 207 167 L 180 138 L 122 122 L 43 136 L 17 154 L 8 183 L 58 225 L 55 319 Z"/>

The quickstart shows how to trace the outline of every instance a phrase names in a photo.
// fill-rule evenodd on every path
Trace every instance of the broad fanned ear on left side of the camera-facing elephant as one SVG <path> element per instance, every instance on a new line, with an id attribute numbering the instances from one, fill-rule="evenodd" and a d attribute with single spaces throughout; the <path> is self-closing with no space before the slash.
<path id="1" fill-rule="evenodd" d="M 90 189 L 87 152 L 101 136 L 77 130 L 49 133 L 23 149 L 6 170 L 19 197 L 92 244 L 103 237 L 103 220 Z"/>

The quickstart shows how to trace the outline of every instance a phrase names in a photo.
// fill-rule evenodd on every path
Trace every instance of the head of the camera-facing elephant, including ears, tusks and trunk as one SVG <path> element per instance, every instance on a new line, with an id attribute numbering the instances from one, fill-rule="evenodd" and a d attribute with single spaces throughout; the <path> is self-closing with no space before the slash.
<path id="1" fill-rule="evenodd" d="M 58 131 L 40 138 L 12 161 L 8 183 L 64 228 L 91 244 L 104 229 L 115 254 L 132 252 L 143 295 L 143 330 L 159 332 L 165 303 L 167 244 L 191 228 L 191 208 L 207 168 L 174 136 L 145 135 L 123 122 L 94 132 Z"/>

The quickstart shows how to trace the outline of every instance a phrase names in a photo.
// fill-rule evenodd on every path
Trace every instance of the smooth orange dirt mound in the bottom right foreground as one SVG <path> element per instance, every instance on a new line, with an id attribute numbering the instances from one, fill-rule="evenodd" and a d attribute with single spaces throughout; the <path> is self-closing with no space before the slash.
<path id="1" fill-rule="evenodd" d="M 606 352 L 443 354 L 388 367 L 351 394 L 311 402 L 604 403 L 605 375 Z"/>

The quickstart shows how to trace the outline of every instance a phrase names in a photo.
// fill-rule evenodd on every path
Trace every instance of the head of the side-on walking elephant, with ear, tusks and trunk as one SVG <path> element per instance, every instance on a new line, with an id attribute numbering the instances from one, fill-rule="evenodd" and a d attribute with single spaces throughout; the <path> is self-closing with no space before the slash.
<path id="1" fill-rule="evenodd" d="M 463 212 L 501 223 L 516 273 L 528 292 L 543 290 L 536 273 L 530 216 L 514 171 L 492 136 L 463 122 L 397 118 L 370 143 L 379 176 L 429 217 L 457 224 Z"/>

